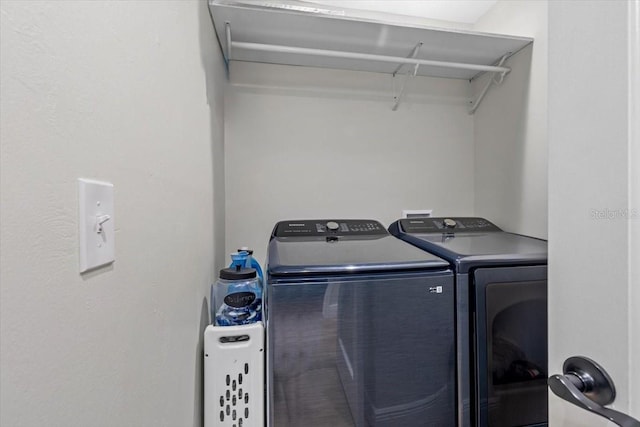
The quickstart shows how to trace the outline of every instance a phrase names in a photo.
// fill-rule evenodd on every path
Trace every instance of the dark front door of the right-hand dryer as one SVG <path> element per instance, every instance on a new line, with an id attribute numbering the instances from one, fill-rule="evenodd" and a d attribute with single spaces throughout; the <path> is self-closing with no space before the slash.
<path id="1" fill-rule="evenodd" d="M 474 272 L 478 426 L 547 423 L 547 267 Z"/>

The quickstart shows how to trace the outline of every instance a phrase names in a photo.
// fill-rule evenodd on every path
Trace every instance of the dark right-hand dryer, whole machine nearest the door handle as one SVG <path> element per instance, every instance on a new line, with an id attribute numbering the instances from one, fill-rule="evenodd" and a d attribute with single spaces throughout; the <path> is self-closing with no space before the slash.
<path id="1" fill-rule="evenodd" d="M 547 242 L 483 218 L 401 219 L 389 231 L 454 268 L 467 422 L 546 426 Z"/>

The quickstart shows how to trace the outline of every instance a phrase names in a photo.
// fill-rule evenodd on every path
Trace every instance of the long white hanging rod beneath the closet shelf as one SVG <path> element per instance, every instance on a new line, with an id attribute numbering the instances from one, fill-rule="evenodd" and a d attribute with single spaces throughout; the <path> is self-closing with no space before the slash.
<path id="1" fill-rule="evenodd" d="M 301 55 L 326 56 L 326 57 L 345 58 L 345 59 L 361 59 L 366 61 L 391 62 L 394 64 L 428 65 L 432 67 L 458 68 L 463 70 L 489 71 L 489 72 L 496 72 L 496 73 L 508 73 L 509 71 L 511 71 L 511 69 L 508 67 L 498 67 L 494 65 L 465 64 L 463 62 L 432 61 L 428 59 L 403 58 L 399 56 L 373 55 L 373 54 L 358 53 L 358 52 L 340 52 L 336 50 L 326 50 L 326 49 L 310 49 L 305 47 L 281 46 L 281 45 L 274 45 L 274 44 L 237 42 L 237 41 L 231 41 L 230 38 L 231 37 L 228 34 L 227 41 L 230 42 L 229 47 L 233 49 L 256 50 L 256 51 L 262 51 L 262 52 L 275 52 L 275 53 L 293 53 L 293 54 L 301 54 Z"/>

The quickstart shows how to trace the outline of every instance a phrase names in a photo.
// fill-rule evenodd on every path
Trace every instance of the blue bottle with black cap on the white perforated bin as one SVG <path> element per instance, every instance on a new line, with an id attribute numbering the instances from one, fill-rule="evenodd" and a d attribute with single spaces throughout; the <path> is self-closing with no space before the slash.
<path id="1" fill-rule="evenodd" d="M 233 254 L 236 255 L 236 254 Z M 262 320 L 262 286 L 253 268 L 236 258 L 231 267 L 220 270 L 211 289 L 212 314 L 217 326 L 246 325 Z"/>

